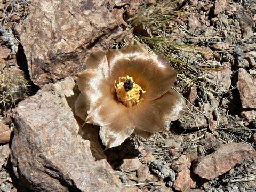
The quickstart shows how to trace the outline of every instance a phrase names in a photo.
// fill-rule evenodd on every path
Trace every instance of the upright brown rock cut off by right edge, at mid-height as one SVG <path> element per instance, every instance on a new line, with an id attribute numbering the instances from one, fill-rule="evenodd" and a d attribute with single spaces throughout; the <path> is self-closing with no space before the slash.
<path id="1" fill-rule="evenodd" d="M 256 81 L 243 68 L 239 68 L 237 89 L 243 108 L 256 108 Z"/>

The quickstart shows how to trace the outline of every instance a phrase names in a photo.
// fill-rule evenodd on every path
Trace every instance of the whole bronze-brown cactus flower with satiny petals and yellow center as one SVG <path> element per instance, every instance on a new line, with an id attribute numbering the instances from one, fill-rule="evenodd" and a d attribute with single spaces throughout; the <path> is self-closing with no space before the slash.
<path id="1" fill-rule="evenodd" d="M 176 71 L 169 61 L 134 41 L 120 50 L 92 52 L 78 74 L 76 114 L 100 126 L 107 148 L 132 133 L 149 137 L 183 114 L 185 102 L 172 90 Z"/>

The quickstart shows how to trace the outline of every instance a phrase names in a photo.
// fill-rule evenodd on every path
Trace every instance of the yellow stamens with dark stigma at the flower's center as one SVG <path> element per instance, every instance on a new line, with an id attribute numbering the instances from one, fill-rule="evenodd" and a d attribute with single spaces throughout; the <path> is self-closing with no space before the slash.
<path id="1" fill-rule="evenodd" d="M 119 77 L 118 83 L 115 80 L 115 89 L 117 99 L 126 107 L 132 107 L 140 102 L 140 91 L 145 93 L 138 84 L 133 81 L 132 77 Z"/>

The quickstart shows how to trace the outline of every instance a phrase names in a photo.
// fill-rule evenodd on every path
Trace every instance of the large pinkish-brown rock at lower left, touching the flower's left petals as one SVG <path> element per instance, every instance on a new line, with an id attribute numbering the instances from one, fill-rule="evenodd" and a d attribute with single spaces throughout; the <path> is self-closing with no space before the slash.
<path id="1" fill-rule="evenodd" d="M 117 173 L 106 159 L 95 161 L 90 141 L 78 135 L 66 100 L 74 96 L 74 86 L 66 78 L 19 103 L 11 147 L 14 173 L 33 191 L 122 191 Z"/>

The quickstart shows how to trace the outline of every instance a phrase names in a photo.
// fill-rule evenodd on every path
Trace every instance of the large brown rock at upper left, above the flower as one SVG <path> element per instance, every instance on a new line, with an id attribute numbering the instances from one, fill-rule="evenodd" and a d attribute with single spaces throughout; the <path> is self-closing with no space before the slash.
<path id="1" fill-rule="evenodd" d="M 32 81 L 42 87 L 74 75 L 86 68 L 89 52 L 121 41 L 128 30 L 119 26 L 113 7 L 114 1 L 33 1 L 17 28 Z"/>

